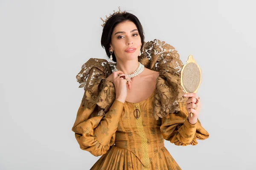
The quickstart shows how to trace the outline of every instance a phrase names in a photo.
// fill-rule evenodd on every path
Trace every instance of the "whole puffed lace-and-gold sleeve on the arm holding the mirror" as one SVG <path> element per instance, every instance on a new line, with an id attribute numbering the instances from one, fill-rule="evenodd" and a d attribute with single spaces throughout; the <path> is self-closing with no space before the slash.
<path id="1" fill-rule="evenodd" d="M 153 115 L 161 118 L 160 130 L 164 139 L 175 145 L 196 145 L 196 139 L 204 140 L 209 133 L 198 120 L 194 125 L 188 121 L 185 91 L 180 84 L 183 63 L 175 48 L 165 41 L 153 40 L 145 43 L 139 61 L 159 72 L 154 96 Z"/>

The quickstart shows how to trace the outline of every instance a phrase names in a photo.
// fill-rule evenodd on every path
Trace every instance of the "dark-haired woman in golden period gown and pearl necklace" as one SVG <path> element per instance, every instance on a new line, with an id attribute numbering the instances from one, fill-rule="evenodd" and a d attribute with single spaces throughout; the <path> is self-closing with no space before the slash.
<path id="1" fill-rule="evenodd" d="M 140 21 L 126 11 L 102 26 L 102 46 L 116 64 L 90 58 L 82 66 L 77 80 L 85 91 L 72 127 L 82 150 L 102 155 L 91 170 L 180 169 L 164 139 L 196 145 L 209 133 L 198 120 L 199 97 L 183 96 L 177 51 L 144 43 Z"/>

